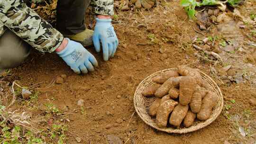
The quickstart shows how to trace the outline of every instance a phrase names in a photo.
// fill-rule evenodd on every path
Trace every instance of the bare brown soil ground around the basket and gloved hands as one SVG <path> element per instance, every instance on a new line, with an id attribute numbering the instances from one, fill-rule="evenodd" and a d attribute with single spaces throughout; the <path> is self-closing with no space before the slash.
<path id="1" fill-rule="evenodd" d="M 251 0 L 251 2 L 254 2 Z M 254 6 L 256 3 L 254 2 Z M 182 64 L 211 75 L 212 63 L 201 62 L 194 53 L 197 52 L 188 43 L 197 34 L 193 29 L 198 26 L 187 19 L 179 2 L 174 0 L 168 6 L 160 6 L 152 11 L 119 12 L 119 19 L 114 22 L 119 37 L 119 49 L 114 58 L 108 62 L 102 60 L 102 54 L 96 54 L 93 48 L 89 50 L 99 61 L 95 72 L 77 75 L 56 54 L 40 54 L 32 51 L 26 63 L 12 69 L 12 75 L 6 76 L 5 81 L 18 80 L 24 86 L 30 86 L 44 81 L 44 87 L 56 75 L 66 74 L 64 84 L 54 84 L 46 90 L 39 90 L 38 102 L 33 105 L 18 100 L 16 107 L 28 111 L 33 117 L 46 117 L 43 111 L 46 103 L 53 103 L 64 111 L 62 117 L 68 118 L 67 144 L 76 144 L 76 135 L 82 138 L 82 144 L 108 144 L 106 135 L 119 136 L 125 144 L 255 144 L 256 131 L 252 136 L 240 135 L 238 125 L 227 117 L 223 109 L 220 116 L 210 126 L 196 132 L 177 135 L 159 132 L 147 126 L 136 114 L 133 106 L 133 94 L 137 85 L 146 76 L 166 68 Z M 214 27 L 208 34 L 214 33 Z M 198 29 L 199 30 L 199 29 Z M 149 45 L 149 34 L 155 34 L 160 41 Z M 208 35 L 207 34 L 207 35 Z M 164 41 L 168 38 L 169 41 Z M 170 40 L 171 39 L 171 40 Z M 163 50 L 163 54 L 159 52 Z M 213 77 L 222 90 L 224 105 L 231 105 L 228 114 L 238 114 L 242 118 L 239 126 L 246 123 L 256 123 L 256 107 L 249 104 L 251 97 L 256 98 L 256 90 L 248 83 L 225 83 Z M 121 98 L 118 99 L 117 96 Z M 85 101 L 83 112 L 77 101 Z M 235 99 L 236 103 L 231 103 Z M 249 117 L 244 111 L 250 109 Z M 110 112 L 110 115 L 107 114 Z M 116 119 L 123 122 L 117 124 Z M 46 118 L 49 121 L 61 123 L 58 117 Z M 109 129 L 106 126 L 111 124 Z M 255 130 L 255 129 L 254 129 Z M 227 144 L 227 143 L 226 143 Z"/>

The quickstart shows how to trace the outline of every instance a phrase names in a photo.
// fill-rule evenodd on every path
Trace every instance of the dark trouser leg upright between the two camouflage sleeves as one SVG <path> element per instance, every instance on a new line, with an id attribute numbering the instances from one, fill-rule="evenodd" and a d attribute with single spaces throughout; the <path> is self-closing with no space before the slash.
<path id="1" fill-rule="evenodd" d="M 84 31 L 85 11 L 89 5 L 90 0 L 58 0 L 57 29 L 64 35 Z"/>

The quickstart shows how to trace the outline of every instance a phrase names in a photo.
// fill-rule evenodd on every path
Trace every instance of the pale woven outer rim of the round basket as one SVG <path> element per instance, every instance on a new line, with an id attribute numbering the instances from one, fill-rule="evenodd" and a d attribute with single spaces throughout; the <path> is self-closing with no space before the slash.
<path id="1" fill-rule="evenodd" d="M 157 130 L 159 130 L 159 131 L 167 132 L 167 133 L 170 133 L 170 134 L 171 134 L 171 133 L 176 133 L 176 134 L 190 133 L 190 132 L 197 131 L 197 130 L 199 130 L 199 129 L 201 129 L 201 128 L 204 128 L 204 127 L 206 127 L 206 126 L 209 126 L 213 121 L 215 121 L 215 120 L 217 119 L 217 117 L 219 117 L 219 115 L 220 115 L 220 113 L 221 113 L 221 111 L 222 111 L 222 109 L 223 109 L 223 106 L 224 106 L 224 99 L 223 99 L 222 92 L 221 92 L 219 86 L 217 85 L 217 83 L 216 83 L 214 80 L 212 80 L 210 76 L 208 76 L 206 73 L 202 72 L 201 70 L 200 70 L 201 75 L 205 76 L 207 79 L 209 79 L 209 80 L 212 82 L 212 85 L 216 88 L 216 91 L 218 91 L 218 94 L 219 94 L 219 97 L 220 97 L 220 107 L 218 108 L 217 114 L 215 114 L 215 117 L 209 118 L 209 119 L 207 119 L 206 121 L 201 122 L 201 123 L 205 123 L 205 125 L 203 125 L 203 126 L 201 126 L 201 127 L 199 127 L 199 126 L 197 127 L 197 125 L 196 125 L 196 126 L 190 126 L 190 127 L 182 128 L 182 129 L 173 129 L 173 128 L 170 128 L 170 127 L 167 127 L 167 128 L 159 128 L 159 127 L 157 127 L 157 126 L 154 126 L 154 125 L 149 124 L 148 122 L 146 122 L 146 120 L 144 119 L 144 117 L 142 117 L 142 115 L 141 115 L 140 112 L 138 111 L 138 108 L 137 108 L 137 105 L 136 105 L 136 104 L 137 104 L 137 102 L 136 102 L 136 99 L 137 99 L 137 91 L 138 91 L 138 89 L 142 86 L 142 84 L 144 83 L 144 81 L 148 80 L 149 77 L 151 77 L 151 76 L 153 76 L 153 75 L 155 75 L 155 74 L 162 73 L 162 72 L 166 72 L 166 71 L 170 71 L 170 70 L 175 70 L 175 69 L 177 69 L 177 68 L 168 68 L 168 69 L 164 69 L 164 70 L 161 70 L 161 71 L 158 71 L 158 72 L 154 72 L 154 73 L 148 75 L 144 80 L 142 80 L 142 81 L 138 84 L 138 86 L 137 86 L 137 88 L 136 88 L 136 90 L 135 90 L 135 92 L 134 92 L 134 98 L 133 98 L 133 101 L 134 101 L 134 108 L 135 108 L 135 110 L 136 110 L 136 112 L 137 112 L 137 115 L 138 115 L 148 126 L 151 126 L 151 127 L 155 128 L 155 129 L 157 129 Z M 147 115 L 148 115 L 148 114 L 147 114 Z M 149 116 L 149 115 L 148 115 L 148 116 Z"/>

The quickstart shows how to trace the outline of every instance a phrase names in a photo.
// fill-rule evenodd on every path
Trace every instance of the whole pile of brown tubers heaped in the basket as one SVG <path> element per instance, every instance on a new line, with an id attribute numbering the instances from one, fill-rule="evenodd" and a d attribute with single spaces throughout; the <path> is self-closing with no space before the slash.
<path id="1" fill-rule="evenodd" d="M 199 69 L 179 66 L 177 71 L 156 76 L 153 82 L 142 94 L 156 97 L 149 114 L 156 117 L 156 125 L 161 128 L 166 127 L 168 122 L 179 128 L 182 122 L 183 126 L 189 127 L 196 118 L 207 120 L 217 104 L 217 94 L 201 78 Z"/>

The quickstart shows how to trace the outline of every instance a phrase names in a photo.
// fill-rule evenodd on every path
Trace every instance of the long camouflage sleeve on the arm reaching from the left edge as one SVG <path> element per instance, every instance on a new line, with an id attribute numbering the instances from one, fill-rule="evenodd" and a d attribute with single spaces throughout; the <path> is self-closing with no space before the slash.
<path id="1" fill-rule="evenodd" d="M 23 0 L 0 0 L 0 22 L 43 53 L 55 51 L 64 38 Z"/>

